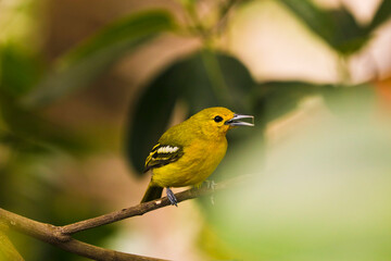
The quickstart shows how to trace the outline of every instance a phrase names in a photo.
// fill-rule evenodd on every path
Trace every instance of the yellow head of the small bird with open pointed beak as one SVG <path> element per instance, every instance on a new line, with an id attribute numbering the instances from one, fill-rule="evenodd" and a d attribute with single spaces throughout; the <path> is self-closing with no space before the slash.
<path id="1" fill-rule="evenodd" d="M 207 108 L 191 116 L 202 133 L 210 136 L 225 136 L 235 126 L 254 126 L 253 123 L 241 122 L 242 119 L 254 119 L 251 115 L 236 114 L 223 107 Z"/>

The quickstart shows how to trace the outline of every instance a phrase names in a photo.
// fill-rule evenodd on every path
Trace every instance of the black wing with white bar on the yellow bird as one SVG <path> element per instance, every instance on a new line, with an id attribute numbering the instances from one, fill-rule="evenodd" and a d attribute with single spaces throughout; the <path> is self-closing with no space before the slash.
<path id="1" fill-rule="evenodd" d="M 152 151 L 148 156 L 143 172 L 175 162 L 182 156 L 184 149 L 180 146 L 157 144 L 152 148 Z"/>

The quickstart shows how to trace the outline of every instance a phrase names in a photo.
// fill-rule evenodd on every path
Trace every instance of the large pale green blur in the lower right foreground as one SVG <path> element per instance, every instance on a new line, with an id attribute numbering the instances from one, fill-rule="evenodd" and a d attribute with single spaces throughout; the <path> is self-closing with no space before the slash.
<path id="1" fill-rule="evenodd" d="M 306 129 L 268 151 L 262 174 L 251 157 L 262 149 L 258 137 L 236 148 L 237 160 L 218 169 L 253 174 L 242 186 L 216 194 L 213 207 L 205 204 L 209 223 L 237 250 L 231 259 L 390 257 L 390 125 L 363 117 L 367 104 L 335 102 L 358 112 L 350 121 L 315 113 Z"/>

